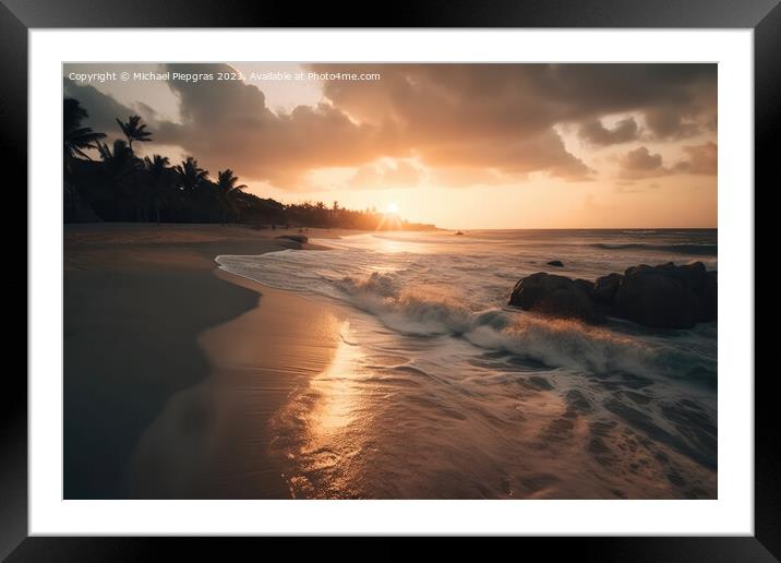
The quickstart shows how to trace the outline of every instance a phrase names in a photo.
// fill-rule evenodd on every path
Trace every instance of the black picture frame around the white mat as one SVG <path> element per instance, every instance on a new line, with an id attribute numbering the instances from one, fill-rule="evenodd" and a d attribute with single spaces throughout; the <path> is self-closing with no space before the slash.
<path id="1" fill-rule="evenodd" d="M 26 161 L 27 33 L 45 27 L 596 27 L 752 28 L 755 77 L 755 184 L 778 175 L 781 106 L 781 5 L 779 0 L 593 0 L 590 2 L 429 0 L 396 3 L 383 17 L 367 8 L 251 0 L 0 0 L 0 154 L 5 163 Z M 26 168 L 16 166 L 16 185 Z M 23 183 L 24 182 L 24 183 Z M 773 183 L 778 183 L 776 180 Z M 10 185 L 7 185 L 11 190 Z M 740 187 L 750 189 L 755 187 Z M 26 191 L 15 189 L 27 209 Z M 31 211 L 31 209 L 27 209 Z M 756 230 L 756 218 L 755 218 Z M 19 235 L 16 235 L 16 238 Z M 758 239 L 758 237 L 755 238 Z M 16 249 L 21 253 L 21 245 Z M 25 248 L 26 263 L 26 248 Z M 25 269 L 26 272 L 26 269 Z M 754 273 L 752 273 L 754 278 Z M 27 278 L 14 276 L 13 295 Z M 24 284 L 24 290 L 22 289 Z M 20 286 L 16 289 L 15 286 Z M 29 295 L 26 294 L 29 299 Z M 26 323 L 25 323 L 26 326 Z M 19 331 L 21 334 L 22 331 Z M 25 332 L 26 335 L 26 332 Z M 25 336 L 26 338 L 26 336 Z M 733 373 L 730 376 L 750 376 Z M 773 372 L 755 379 L 755 535 L 753 537 L 644 537 L 528 539 L 546 556 L 564 552 L 599 561 L 776 561 L 781 559 L 781 488 Z M 0 558 L 8 561 L 137 561 L 175 546 L 179 556 L 195 548 L 201 556 L 225 555 L 228 540 L 204 544 L 184 539 L 27 537 L 27 384 L 21 370 L 4 374 L 0 392 Z M 254 540 L 244 540 L 254 541 Z M 245 549 L 245 546 L 244 546 Z M 214 551 L 212 551 L 214 550 Z M 389 555 L 392 552 L 387 552 Z M 157 558 L 155 558 L 157 559 Z"/>

